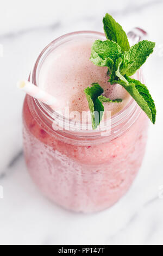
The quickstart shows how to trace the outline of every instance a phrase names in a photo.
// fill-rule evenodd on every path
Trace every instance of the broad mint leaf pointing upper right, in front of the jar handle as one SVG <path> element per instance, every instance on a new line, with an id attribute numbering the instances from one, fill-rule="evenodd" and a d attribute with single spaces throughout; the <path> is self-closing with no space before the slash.
<path id="1" fill-rule="evenodd" d="M 154 42 L 143 40 L 132 46 L 128 52 L 124 52 L 121 74 L 134 75 L 136 70 L 146 62 L 147 57 L 153 52 L 154 46 Z"/>

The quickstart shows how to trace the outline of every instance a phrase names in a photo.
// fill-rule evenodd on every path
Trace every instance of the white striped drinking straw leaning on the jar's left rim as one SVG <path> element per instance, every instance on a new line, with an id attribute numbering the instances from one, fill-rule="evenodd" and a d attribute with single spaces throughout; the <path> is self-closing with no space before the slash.
<path id="1" fill-rule="evenodd" d="M 19 81 L 17 83 L 17 87 L 21 90 L 23 90 L 25 93 L 29 94 L 30 96 L 34 97 L 37 100 L 40 100 L 41 102 L 53 106 L 58 107 L 58 100 L 52 96 L 51 94 L 46 93 L 41 88 L 35 86 L 33 83 L 30 83 L 29 81 Z"/>

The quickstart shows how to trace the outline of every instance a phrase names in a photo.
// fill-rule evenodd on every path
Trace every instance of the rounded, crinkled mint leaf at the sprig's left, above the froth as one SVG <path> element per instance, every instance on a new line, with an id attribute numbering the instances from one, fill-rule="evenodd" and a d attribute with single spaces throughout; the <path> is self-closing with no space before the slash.
<path id="1" fill-rule="evenodd" d="M 116 42 L 96 40 L 92 45 L 90 60 L 97 66 L 108 66 L 111 72 L 115 60 L 121 54 L 121 47 Z"/>

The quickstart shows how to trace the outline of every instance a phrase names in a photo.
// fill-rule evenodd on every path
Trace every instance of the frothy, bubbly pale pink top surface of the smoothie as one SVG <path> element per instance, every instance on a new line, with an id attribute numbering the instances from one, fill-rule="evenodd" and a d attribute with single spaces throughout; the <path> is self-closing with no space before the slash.
<path id="1" fill-rule="evenodd" d="M 84 89 L 93 82 L 98 82 L 104 89 L 104 96 L 111 100 L 123 99 L 119 103 L 104 103 L 105 112 L 111 111 L 111 115 L 114 115 L 129 102 L 130 95 L 122 86 L 108 82 L 108 69 L 91 62 L 93 41 L 95 39 L 86 38 L 67 42 L 57 47 L 43 62 L 39 84 L 60 100 L 61 111 L 67 106 L 70 112 L 89 111 Z"/>

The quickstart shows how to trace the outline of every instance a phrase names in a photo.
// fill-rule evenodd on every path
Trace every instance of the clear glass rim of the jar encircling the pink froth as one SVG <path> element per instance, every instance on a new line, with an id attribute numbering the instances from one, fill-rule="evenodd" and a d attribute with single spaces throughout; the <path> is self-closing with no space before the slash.
<path id="1" fill-rule="evenodd" d="M 105 34 L 101 32 L 95 32 L 95 31 L 77 31 L 68 33 L 65 35 L 60 36 L 59 38 L 53 40 L 51 43 L 49 43 L 43 51 L 40 53 L 39 57 L 36 59 L 36 62 L 33 66 L 33 69 L 30 74 L 30 82 L 34 83 L 36 86 L 38 85 L 38 76 L 39 76 L 39 69 L 41 64 L 43 63 L 43 60 L 50 54 L 52 51 L 55 50 L 58 46 L 61 44 L 64 44 L 67 41 L 73 40 L 76 38 L 76 36 L 87 36 L 89 38 L 97 38 L 97 39 L 104 39 L 105 40 Z M 139 77 L 138 79 L 141 80 L 142 72 L 141 70 L 138 70 L 136 75 Z M 40 109 L 41 113 L 45 115 L 47 119 L 49 119 L 52 123 L 53 121 L 57 121 L 58 118 L 59 121 L 61 119 L 64 119 L 64 122 L 66 122 L 66 126 L 70 127 L 70 130 L 66 130 L 66 133 L 71 133 L 74 135 L 77 135 L 79 137 L 97 137 L 98 135 L 101 135 L 103 132 L 108 132 L 110 129 L 112 130 L 112 135 L 120 135 L 121 131 L 117 127 L 121 124 L 123 124 L 123 132 L 126 131 L 131 124 L 135 123 L 136 119 L 139 117 L 139 114 L 141 112 L 141 109 L 135 102 L 133 98 L 128 102 L 128 104 L 121 109 L 120 112 L 116 113 L 115 115 L 112 115 L 111 124 L 108 126 L 105 126 L 102 130 L 81 130 L 80 126 L 79 129 L 73 131 L 71 129 L 71 121 L 68 119 L 65 119 L 62 115 L 59 115 L 57 112 L 55 112 L 51 107 L 47 106 L 45 103 L 42 103 L 40 100 L 34 99 L 34 102 L 36 106 Z M 130 121 L 129 121 L 130 120 Z M 110 134 L 109 134 L 110 136 Z M 111 139 L 115 136 L 111 136 Z"/>

